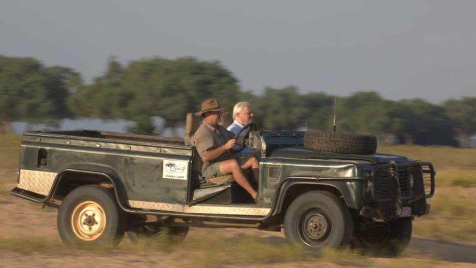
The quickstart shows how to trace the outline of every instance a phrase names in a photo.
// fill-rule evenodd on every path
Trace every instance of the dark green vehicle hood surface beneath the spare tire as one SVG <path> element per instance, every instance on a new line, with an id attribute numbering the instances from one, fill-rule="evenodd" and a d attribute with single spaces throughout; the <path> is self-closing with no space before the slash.
<path id="1" fill-rule="evenodd" d="M 397 163 L 409 162 L 408 158 L 393 154 L 375 153 L 371 155 L 357 155 L 357 154 L 337 154 L 324 153 L 311 150 L 305 150 L 303 146 L 275 148 L 272 149 L 268 157 L 274 158 L 316 158 L 316 159 L 339 159 L 339 160 L 360 160 L 369 161 L 374 164 L 383 164 L 390 161 Z"/>

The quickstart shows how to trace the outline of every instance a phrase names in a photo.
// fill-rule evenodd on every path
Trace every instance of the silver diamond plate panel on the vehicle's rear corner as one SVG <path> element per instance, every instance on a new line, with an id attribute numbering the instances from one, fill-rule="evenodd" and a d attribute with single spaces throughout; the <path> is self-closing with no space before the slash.
<path id="1" fill-rule="evenodd" d="M 50 193 L 57 174 L 56 172 L 20 169 L 20 183 L 17 187 L 46 196 Z"/>

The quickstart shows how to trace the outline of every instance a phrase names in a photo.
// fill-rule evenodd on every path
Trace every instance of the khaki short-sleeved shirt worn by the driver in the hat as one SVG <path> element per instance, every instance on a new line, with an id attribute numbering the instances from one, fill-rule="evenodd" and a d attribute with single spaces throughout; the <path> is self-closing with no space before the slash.
<path id="1" fill-rule="evenodd" d="M 204 157 L 208 150 L 218 148 L 219 146 L 226 144 L 230 139 L 234 138 L 234 134 L 221 125 L 217 125 L 213 127 L 205 122 L 202 121 L 201 125 L 198 127 L 195 134 L 192 136 L 192 145 L 195 146 L 197 149 L 198 154 L 200 157 Z M 216 163 L 228 159 L 233 159 L 234 156 L 227 150 L 218 158 L 210 161 L 210 163 Z M 210 164 L 209 162 L 203 163 L 204 166 Z"/>

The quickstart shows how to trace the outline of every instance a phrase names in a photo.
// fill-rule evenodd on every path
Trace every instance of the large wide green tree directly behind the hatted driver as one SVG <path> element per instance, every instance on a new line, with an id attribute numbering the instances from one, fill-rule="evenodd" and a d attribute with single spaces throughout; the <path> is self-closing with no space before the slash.
<path id="1" fill-rule="evenodd" d="M 80 116 L 133 120 L 137 125 L 131 130 L 140 133 L 151 133 L 150 118 L 160 116 L 174 133 L 186 113 L 197 111 L 205 99 L 217 98 L 231 109 L 238 94 L 237 80 L 219 62 L 151 58 L 123 68 L 112 58 L 107 71 L 80 88 L 69 103 Z"/>

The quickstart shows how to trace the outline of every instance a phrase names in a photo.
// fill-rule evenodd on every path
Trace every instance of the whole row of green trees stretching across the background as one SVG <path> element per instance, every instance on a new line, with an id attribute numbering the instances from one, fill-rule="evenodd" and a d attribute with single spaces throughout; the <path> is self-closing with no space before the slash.
<path id="1" fill-rule="evenodd" d="M 218 61 L 184 57 L 148 58 L 121 64 L 115 58 L 92 82 L 64 66 L 44 66 L 34 58 L 0 55 L 0 124 L 13 121 L 57 124 L 90 117 L 135 122 L 130 131 L 151 134 L 152 118 L 164 127 L 184 125 L 185 114 L 216 98 L 228 110 L 238 101 L 252 104 L 261 129 L 332 129 L 334 96 L 300 94 L 295 86 L 244 91 Z M 377 92 L 337 97 L 337 129 L 373 133 L 382 142 L 469 145 L 476 133 L 476 97 L 441 104 L 422 99 L 385 100 Z M 174 133 L 174 132 L 173 132 Z M 459 143 L 458 143 L 459 141 Z"/>

